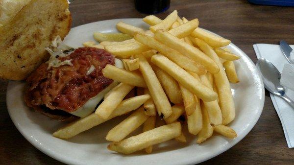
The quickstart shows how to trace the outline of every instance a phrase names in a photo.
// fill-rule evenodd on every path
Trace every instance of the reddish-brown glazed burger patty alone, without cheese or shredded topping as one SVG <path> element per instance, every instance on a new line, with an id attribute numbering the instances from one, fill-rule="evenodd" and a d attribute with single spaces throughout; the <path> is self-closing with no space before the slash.
<path id="1" fill-rule="evenodd" d="M 73 65 L 48 69 L 47 63 L 42 64 L 26 79 L 25 102 L 37 112 L 65 120 L 73 118 L 66 112 L 77 110 L 113 82 L 101 71 L 107 64 L 114 65 L 114 57 L 103 49 L 80 47 L 58 59 L 71 60 Z"/>

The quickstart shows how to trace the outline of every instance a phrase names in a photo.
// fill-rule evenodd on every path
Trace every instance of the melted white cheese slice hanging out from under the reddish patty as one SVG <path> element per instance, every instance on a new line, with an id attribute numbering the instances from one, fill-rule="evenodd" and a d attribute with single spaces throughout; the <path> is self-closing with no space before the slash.
<path id="1" fill-rule="evenodd" d="M 123 69 L 123 62 L 120 59 L 115 58 L 115 66 Z M 113 81 L 107 88 L 97 94 L 95 97 L 90 98 L 83 106 L 79 109 L 71 112 L 72 115 L 84 118 L 95 111 L 97 104 L 102 100 L 104 95 L 114 88 L 119 82 Z"/>

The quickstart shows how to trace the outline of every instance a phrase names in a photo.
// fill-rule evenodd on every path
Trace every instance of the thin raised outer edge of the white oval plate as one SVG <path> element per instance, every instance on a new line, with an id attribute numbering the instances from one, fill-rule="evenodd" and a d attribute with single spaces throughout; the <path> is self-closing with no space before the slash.
<path id="1" fill-rule="evenodd" d="M 121 18 L 121 19 L 102 20 L 102 21 L 96 21 L 96 22 L 92 22 L 92 23 L 88 23 L 88 24 L 101 23 L 101 22 L 108 22 L 108 21 L 116 21 L 116 20 L 141 20 L 141 21 L 142 21 L 142 18 Z M 75 27 L 71 28 L 71 30 L 73 30 L 74 28 L 80 27 L 80 26 L 88 25 L 88 24 L 81 24 L 81 25 L 75 26 Z M 206 30 L 206 29 L 204 29 L 204 30 Z M 216 33 L 214 33 L 214 32 L 211 32 L 211 31 L 209 31 L 209 30 L 206 30 L 206 31 L 208 31 L 208 32 L 210 32 L 210 33 L 213 33 L 213 34 L 215 34 L 215 35 L 217 35 L 217 36 L 220 36 L 220 35 L 218 35 L 218 34 L 216 34 Z M 237 48 L 237 49 L 240 51 L 240 53 L 242 53 L 242 54 L 247 58 L 247 60 L 249 61 L 249 63 L 250 63 L 251 65 L 254 66 L 254 69 L 257 70 L 257 68 L 256 68 L 255 64 L 253 63 L 253 61 L 249 58 L 249 56 L 247 56 L 247 54 L 246 54 L 243 50 L 241 50 L 239 47 L 237 47 L 237 46 L 234 45 L 233 43 L 230 43 L 229 45 L 232 46 L 232 47 Z M 257 70 L 256 73 L 257 73 L 257 76 L 258 76 L 259 79 L 260 79 L 260 84 L 261 84 L 261 88 L 262 88 L 262 94 L 261 94 L 262 97 L 261 97 L 261 102 L 260 102 L 260 104 L 258 105 L 258 107 L 259 107 L 258 114 L 255 116 L 255 118 L 254 118 L 254 120 L 253 120 L 253 122 L 252 122 L 252 123 L 254 123 L 254 124 L 252 124 L 250 127 L 248 127 L 248 128 L 245 130 L 244 137 L 240 138 L 240 139 L 237 140 L 237 141 L 230 142 L 231 144 L 229 144 L 229 146 L 227 146 L 225 149 L 221 149 L 221 150 L 219 150 L 218 152 L 213 153 L 213 154 L 211 154 L 210 156 L 208 156 L 208 157 L 206 157 L 206 158 L 204 158 L 204 159 L 196 160 L 196 159 L 193 159 L 193 158 L 191 157 L 192 159 L 182 160 L 182 162 L 181 162 L 180 165 L 194 165 L 194 164 L 198 164 L 198 163 L 201 163 L 201 162 L 207 161 L 207 160 L 209 160 L 209 159 L 212 159 L 212 158 L 214 158 L 214 157 L 220 155 L 221 153 L 227 151 L 228 149 L 232 148 L 232 147 L 233 147 L 234 145 L 236 145 L 237 143 L 239 143 L 239 142 L 240 142 L 241 140 L 243 140 L 243 139 L 245 138 L 245 136 L 247 136 L 247 134 L 253 129 L 253 127 L 256 125 L 257 121 L 259 120 L 259 118 L 260 118 L 260 116 L 261 116 L 261 114 L 262 114 L 262 111 L 263 111 L 263 108 L 264 108 L 264 103 L 265 103 L 265 88 L 264 88 L 263 80 L 262 80 L 262 77 L 261 77 L 261 75 L 260 75 L 260 73 L 259 73 L 258 70 Z M 11 80 L 8 82 L 8 85 L 7 85 L 7 91 L 8 91 L 8 89 L 9 89 L 9 87 L 10 87 L 10 84 L 11 84 Z M 29 137 L 29 135 L 25 134 L 24 130 L 22 130 L 22 129 L 20 128 L 20 125 L 17 124 L 17 121 L 15 121 L 15 118 L 12 117 L 12 115 L 11 115 L 11 111 L 10 111 L 9 108 L 8 108 L 9 105 L 7 104 L 7 100 L 8 100 L 8 93 L 6 92 L 6 107 L 7 107 L 7 111 L 8 111 L 9 117 L 11 118 L 12 122 L 14 123 L 14 125 L 16 126 L 16 128 L 18 129 L 18 131 L 23 135 L 23 137 L 24 137 L 27 141 L 29 141 L 34 147 L 36 147 L 36 148 L 37 148 L 38 150 L 40 150 L 41 152 L 43 152 L 44 154 L 48 155 L 49 157 L 51 157 L 51 158 L 53 158 L 53 159 L 55 159 L 55 160 L 57 160 L 57 161 L 60 161 L 60 162 L 65 163 L 65 164 L 70 164 L 70 165 L 78 164 L 78 162 L 75 162 L 75 161 L 71 161 L 71 160 L 69 160 L 69 159 L 66 159 L 67 157 L 60 156 L 60 155 L 58 155 L 58 154 L 54 154 L 54 151 L 51 151 L 51 150 L 49 150 L 49 149 L 46 149 L 43 145 L 38 145 L 39 143 L 37 143 L 36 141 L 33 141 L 33 140 Z"/>

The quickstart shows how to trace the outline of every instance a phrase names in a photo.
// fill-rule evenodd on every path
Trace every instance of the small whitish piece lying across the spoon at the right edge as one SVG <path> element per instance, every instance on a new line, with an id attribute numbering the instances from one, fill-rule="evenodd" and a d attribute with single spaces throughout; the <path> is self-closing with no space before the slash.
<path id="1" fill-rule="evenodd" d="M 294 65 L 285 64 L 281 74 L 280 84 L 294 91 L 293 82 L 294 82 Z"/>

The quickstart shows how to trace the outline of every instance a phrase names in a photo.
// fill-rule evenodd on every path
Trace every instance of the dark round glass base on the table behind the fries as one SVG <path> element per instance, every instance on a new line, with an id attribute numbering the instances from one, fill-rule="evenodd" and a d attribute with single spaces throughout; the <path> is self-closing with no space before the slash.
<path id="1" fill-rule="evenodd" d="M 135 0 L 135 7 L 140 13 L 157 14 L 170 7 L 171 0 Z"/>

